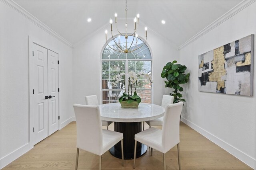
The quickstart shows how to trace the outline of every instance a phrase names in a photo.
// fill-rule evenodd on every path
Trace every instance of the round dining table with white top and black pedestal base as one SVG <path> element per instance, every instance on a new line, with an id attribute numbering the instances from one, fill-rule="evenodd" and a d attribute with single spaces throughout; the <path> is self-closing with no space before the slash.
<path id="1" fill-rule="evenodd" d="M 114 121 L 114 131 L 124 134 L 123 147 L 124 159 L 134 158 L 134 135 L 142 131 L 143 121 L 149 121 L 164 116 L 164 107 L 156 104 L 140 103 L 138 108 L 121 108 L 120 103 L 99 105 L 101 119 Z M 110 150 L 110 153 L 122 158 L 121 142 Z M 147 151 L 147 146 L 137 143 L 136 158 Z"/>

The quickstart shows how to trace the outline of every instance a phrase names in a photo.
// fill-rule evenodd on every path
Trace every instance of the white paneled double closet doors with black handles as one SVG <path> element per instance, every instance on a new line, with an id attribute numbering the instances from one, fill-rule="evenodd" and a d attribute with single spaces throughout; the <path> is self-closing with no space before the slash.
<path id="1" fill-rule="evenodd" d="M 59 129 L 58 54 L 32 44 L 30 87 L 33 90 L 33 144 L 42 141 Z"/>

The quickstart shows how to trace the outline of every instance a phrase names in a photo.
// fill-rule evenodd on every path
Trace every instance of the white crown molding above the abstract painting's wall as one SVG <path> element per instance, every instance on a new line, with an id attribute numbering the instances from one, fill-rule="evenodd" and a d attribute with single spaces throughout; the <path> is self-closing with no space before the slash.
<path id="1" fill-rule="evenodd" d="M 202 31 L 200 31 L 199 33 L 194 35 L 192 38 L 188 39 L 188 41 L 186 41 L 184 44 L 180 45 L 178 47 L 178 50 L 181 50 L 184 47 L 186 47 L 187 45 L 189 45 L 190 43 L 196 41 L 196 39 L 202 37 L 204 34 L 208 33 L 209 31 L 211 31 L 212 29 L 214 29 L 215 27 L 217 27 L 218 25 L 220 25 L 224 21 L 228 20 L 229 18 L 231 18 L 232 16 L 234 16 L 235 14 L 237 14 L 238 12 L 240 12 L 241 10 L 246 8 L 247 6 L 250 6 L 255 1 L 256 0 L 243 0 L 238 5 L 236 5 L 234 8 L 232 8 L 231 10 L 226 12 L 224 15 L 222 15 L 220 18 L 213 21 L 210 25 L 208 25 L 207 27 L 202 29 Z"/>

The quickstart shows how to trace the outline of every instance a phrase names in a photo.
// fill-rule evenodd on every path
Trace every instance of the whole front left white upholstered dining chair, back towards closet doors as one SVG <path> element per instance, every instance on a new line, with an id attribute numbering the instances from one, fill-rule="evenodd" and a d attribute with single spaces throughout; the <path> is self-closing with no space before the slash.
<path id="1" fill-rule="evenodd" d="M 77 134 L 76 170 L 78 167 L 79 149 L 99 155 L 99 169 L 101 169 L 102 154 L 119 141 L 121 141 L 122 166 L 124 166 L 123 134 L 102 129 L 98 106 L 74 104 L 73 107 L 76 115 Z"/>

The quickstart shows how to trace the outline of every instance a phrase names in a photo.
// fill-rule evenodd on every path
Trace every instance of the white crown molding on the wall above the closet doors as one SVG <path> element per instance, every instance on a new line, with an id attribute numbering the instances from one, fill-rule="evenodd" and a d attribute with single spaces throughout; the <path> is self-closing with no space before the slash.
<path id="1" fill-rule="evenodd" d="M 42 21 L 38 20 L 36 17 L 34 17 L 32 14 L 30 14 L 28 11 L 26 11 L 24 8 L 22 8 L 21 6 L 19 6 L 18 4 L 16 4 L 16 2 L 14 2 L 13 0 L 0 0 L 2 2 L 4 2 L 4 4 L 10 6 L 11 8 L 13 8 L 14 10 L 16 10 L 17 12 L 19 12 L 20 14 L 22 14 L 23 16 L 25 16 L 26 18 L 28 18 L 28 20 L 32 21 L 32 23 L 34 23 L 35 25 L 37 25 L 38 27 L 40 27 L 41 29 L 43 29 L 44 31 L 46 31 L 47 33 L 49 33 L 50 35 L 54 36 L 56 39 L 58 39 L 59 41 L 61 41 L 62 43 L 70 46 L 73 48 L 73 44 L 70 43 L 68 40 L 64 39 L 62 36 L 60 36 L 58 33 L 56 33 L 55 31 L 53 31 L 52 29 L 50 29 L 50 27 L 48 27 L 47 25 L 45 25 L 44 23 L 42 23 Z"/>

